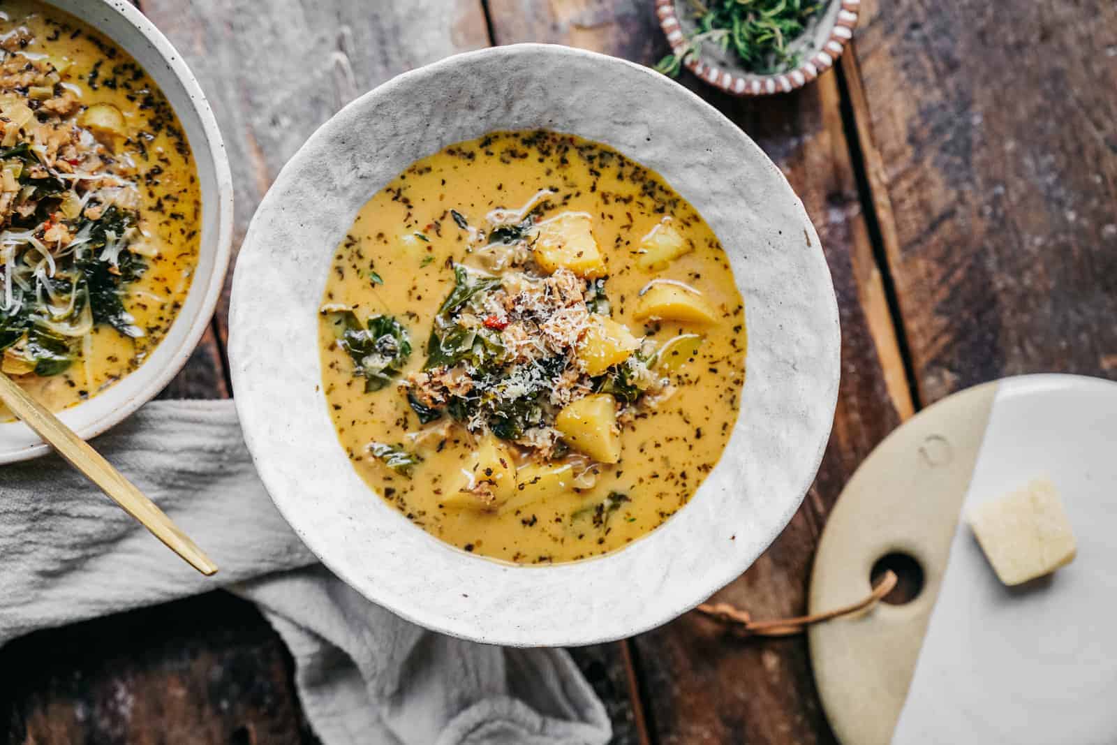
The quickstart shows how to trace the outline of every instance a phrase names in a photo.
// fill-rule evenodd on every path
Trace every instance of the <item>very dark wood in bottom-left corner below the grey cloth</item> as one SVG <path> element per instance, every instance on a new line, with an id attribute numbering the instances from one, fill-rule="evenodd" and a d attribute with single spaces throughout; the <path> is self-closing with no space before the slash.
<path id="1" fill-rule="evenodd" d="M 17 639 L 0 669 L 0 742 L 11 745 L 317 742 L 286 649 L 254 605 L 223 592 Z"/>

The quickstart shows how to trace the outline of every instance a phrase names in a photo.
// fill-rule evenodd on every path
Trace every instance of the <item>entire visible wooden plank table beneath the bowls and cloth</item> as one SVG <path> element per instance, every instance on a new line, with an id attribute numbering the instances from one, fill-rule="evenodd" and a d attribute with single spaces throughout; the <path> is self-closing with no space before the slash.
<path id="1" fill-rule="evenodd" d="M 666 51 L 652 4 L 141 8 L 217 112 L 239 242 L 283 163 L 360 93 L 490 44 L 555 41 L 651 64 Z M 756 617 L 804 610 L 812 550 L 842 485 L 920 407 L 1006 374 L 1117 378 L 1117 4 L 863 4 L 839 69 L 801 92 L 741 101 L 684 79 L 787 174 L 841 306 L 841 397 L 818 480 L 771 550 L 718 594 Z M 229 395 L 227 313 L 223 303 L 164 397 Z M 618 743 L 833 742 L 803 639 L 742 640 L 688 614 L 573 652 Z M 290 680 L 255 609 L 211 593 L 0 650 L 0 734 L 39 745 L 313 743 Z"/>

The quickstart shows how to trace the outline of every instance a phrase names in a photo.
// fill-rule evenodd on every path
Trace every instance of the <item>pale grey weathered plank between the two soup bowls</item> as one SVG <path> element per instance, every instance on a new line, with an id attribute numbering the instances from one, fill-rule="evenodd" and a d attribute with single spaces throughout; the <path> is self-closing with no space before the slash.
<path id="1" fill-rule="evenodd" d="M 338 108 L 399 73 L 488 45 L 480 0 L 141 4 L 217 115 L 232 165 L 235 250 L 279 169 Z M 223 341 L 228 292 L 217 318 Z"/>

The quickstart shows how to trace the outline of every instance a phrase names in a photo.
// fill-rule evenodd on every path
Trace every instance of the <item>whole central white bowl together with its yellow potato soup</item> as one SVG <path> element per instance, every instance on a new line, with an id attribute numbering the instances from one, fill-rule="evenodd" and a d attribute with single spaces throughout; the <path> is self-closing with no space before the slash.
<path id="1" fill-rule="evenodd" d="M 280 512 L 370 599 L 489 642 L 629 636 L 747 567 L 813 478 L 837 352 L 818 237 L 763 153 L 560 47 L 351 104 L 233 281 L 236 400 Z"/>

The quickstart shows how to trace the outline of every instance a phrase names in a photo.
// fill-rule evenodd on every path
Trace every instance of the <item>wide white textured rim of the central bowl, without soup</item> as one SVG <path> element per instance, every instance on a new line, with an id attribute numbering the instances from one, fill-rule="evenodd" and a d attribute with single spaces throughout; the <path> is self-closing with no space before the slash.
<path id="1" fill-rule="evenodd" d="M 661 173 L 717 232 L 745 299 L 747 380 L 726 453 L 690 504 L 613 554 L 512 566 L 467 554 L 373 494 L 321 390 L 317 307 L 357 209 L 413 161 L 493 130 L 548 127 Z M 346 106 L 284 168 L 233 276 L 229 356 L 256 466 L 295 532 L 370 600 L 430 629 L 515 646 L 628 637 L 741 574 L 799 507 L 838 391 L 838 308 L 819 238 L 780 170 L 663 76 L 545 45 L 474 51 Z"/>

